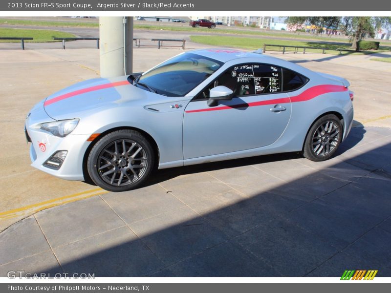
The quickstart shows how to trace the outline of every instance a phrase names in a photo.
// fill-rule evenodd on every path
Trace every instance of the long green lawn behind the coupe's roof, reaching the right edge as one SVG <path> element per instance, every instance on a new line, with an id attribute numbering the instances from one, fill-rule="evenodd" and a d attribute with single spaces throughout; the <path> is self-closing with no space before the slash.
<path id="1" fill-rule="evenodd" d="M 287 46 L 305 46 L 305 47 L 320 47 L 320 48 L 329 48 L 332 50 L 326 50 L 328 54 L 339 54 L 339 51 L 334 51 L 336 49 L 349 49 L 350 44 L 346 45 L 336 45 L 332 42 L 302 42 L 295 40 L 273 40 L 273 39 L 255 39 L 255 38 L 232 38 L 225 36 L 190 36 L 192 42 L 213 45 L 213 46 L 227 46 L 227 47 L 237 47 L 242 49 L 259 49 L 263 48 L 263 44 L 271 45 L 287 45 Z M 279 47 L 266 47 L 266 51 L 278 51 Z M 282 50 L 282 48 L 281 48 Z M 293 51 L 294 48 L 286 48 L 285 51 Z M 391 47 L 384 46 L 381 50 L 377 51 L 362 51 L 362 52 L 342 52 L 342 54 L 373 54 L 378 52 L 391 51 Z M 299 52 L 303 52 L 303 49 L 299 49 Z M 305 52 L 317 52 L 321 53 L 322 50 L 319 49 L 306 49 Z"/>

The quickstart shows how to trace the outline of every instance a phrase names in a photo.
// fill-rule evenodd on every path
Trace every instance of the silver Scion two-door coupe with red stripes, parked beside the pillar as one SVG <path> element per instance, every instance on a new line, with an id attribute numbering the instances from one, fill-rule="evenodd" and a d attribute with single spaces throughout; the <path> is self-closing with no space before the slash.
<path id="1" fill-rule="evenodd" d="M 352 125 L 348 86 L 258 52 L 195 50 L 67 87 L 32 108 L 25 132 L 33 167 L 124 191 L 154 167 L 292 151 L 324 161 Z"/>

